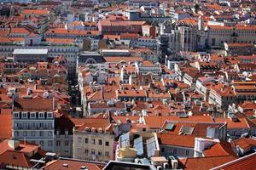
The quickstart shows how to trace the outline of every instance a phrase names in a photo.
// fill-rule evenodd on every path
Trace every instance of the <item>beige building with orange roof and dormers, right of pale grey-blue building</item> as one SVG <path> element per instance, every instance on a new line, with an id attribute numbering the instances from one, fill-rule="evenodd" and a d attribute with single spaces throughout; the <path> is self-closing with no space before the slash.
<path id="1" fill-rule="evenodd" d="M 129 131 L 130 124 L 113 124 L 105 118 L 87 118 L 83 125 L 73 128 L 73 158 L 87 161 L 114 160 L 116 137 Z"/>

